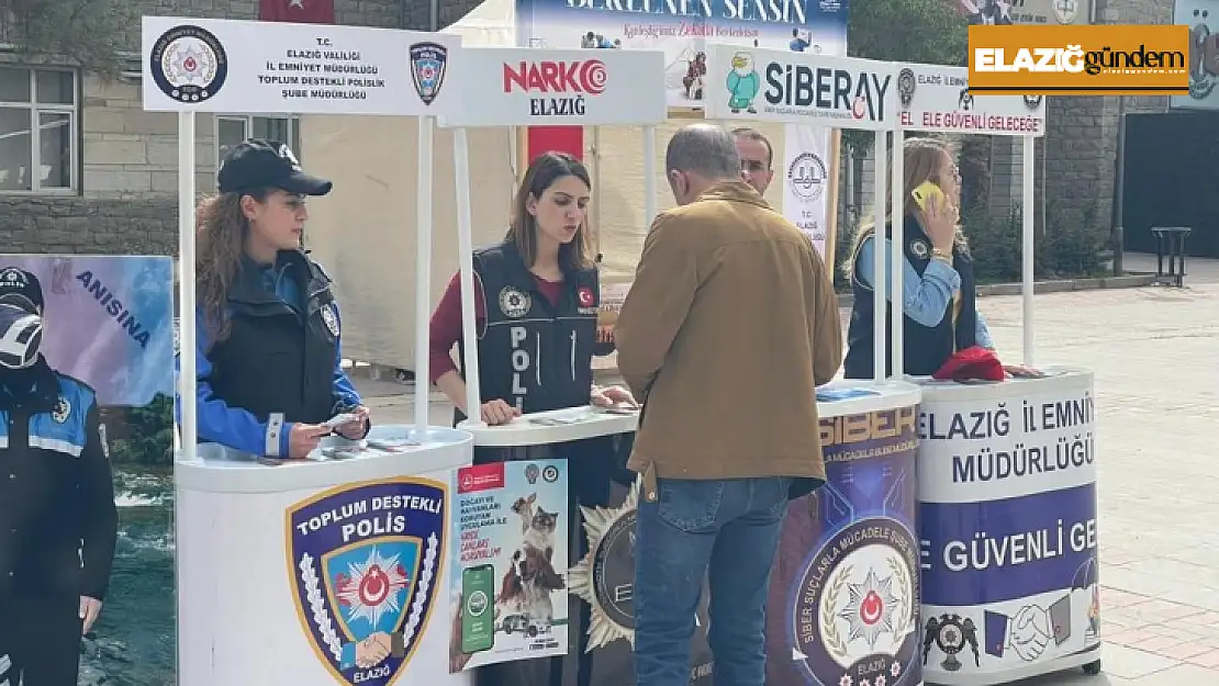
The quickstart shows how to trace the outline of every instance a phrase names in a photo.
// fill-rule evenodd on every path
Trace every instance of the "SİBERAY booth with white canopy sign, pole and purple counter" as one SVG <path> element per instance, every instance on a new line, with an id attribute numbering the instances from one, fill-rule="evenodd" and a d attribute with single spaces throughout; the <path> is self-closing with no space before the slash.
<path id="1" fill-rule="evenodd" d="M 708 89 L 708 119 L 875 132 L 875 221 L 884 224 L 885 134 L 897 126 L 894 65 L 708 45 L 707 72 L 712 83 L 728 85 Z M 896 179 L 900 164 L 898 157 Z M 886 266 L 881 251 L 876 256 L 875 288 L 884 291 Z M 883 361 L 884 308 L 878 308 L 874 325 L 875 355 Z M 883 375 L 884 364 L 876 368 Z M 878 377 L 833 383 L 817 395 L 826 484 L 792 501 L 784 522 L 767 612 L 767 685 L 881 680 L 915 686 L 922 684 L 915 535 L 919 389 Z"/>

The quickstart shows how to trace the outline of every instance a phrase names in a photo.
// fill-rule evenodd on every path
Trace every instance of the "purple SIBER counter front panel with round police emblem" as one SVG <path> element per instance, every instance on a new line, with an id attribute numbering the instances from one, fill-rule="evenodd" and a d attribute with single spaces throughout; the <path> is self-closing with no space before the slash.
<path id="1" fill-rule="evenodd" d="M 767 608 L 768 686 L 923 682 L 918 407 L 823 417 L 825 485 L 787 507 Z"/>

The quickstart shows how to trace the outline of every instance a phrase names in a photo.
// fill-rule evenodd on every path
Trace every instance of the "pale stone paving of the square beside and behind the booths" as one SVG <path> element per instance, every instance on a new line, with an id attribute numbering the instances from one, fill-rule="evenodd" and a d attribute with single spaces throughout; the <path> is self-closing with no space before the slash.
<path id="1" fill-rule="evenodd" d="M 1219 686 L 1219 266 L 1191 262 L 1187 283 L 1037 296 L 1036 362 L 1096 373 L 1104 674 L 1024 686 Z M 1019 299 L 979 303 L 1018 362 Z M 361 386 L 382 420 L 411 420 L 403 386 Z"/>

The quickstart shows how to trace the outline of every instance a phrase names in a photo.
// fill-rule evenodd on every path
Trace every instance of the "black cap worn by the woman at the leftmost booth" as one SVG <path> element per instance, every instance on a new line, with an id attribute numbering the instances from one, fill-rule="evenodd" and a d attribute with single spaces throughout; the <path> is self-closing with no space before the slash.
<path id="1" fill-rule="evenodd" d="M 325 195 L 334 184 L 301 171 L 286 144 L 247 139 L 234 145 L 221 161 L 217 174 L 221 193 L 277 188 L 297 195 Z"/>

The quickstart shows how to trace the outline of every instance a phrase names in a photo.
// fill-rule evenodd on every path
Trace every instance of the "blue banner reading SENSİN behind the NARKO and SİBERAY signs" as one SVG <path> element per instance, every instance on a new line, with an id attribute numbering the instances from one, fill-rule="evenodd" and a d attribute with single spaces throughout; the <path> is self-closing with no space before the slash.
<path id="1" fill-rule="evenodd" d="M 669 107 L 698 107 L 723 76 L 707 68 L 712 43 L 845 55 L 848 2 L 606 2 L 517 0 L 517 41 L 552 49 L 664 51 Z"/>

